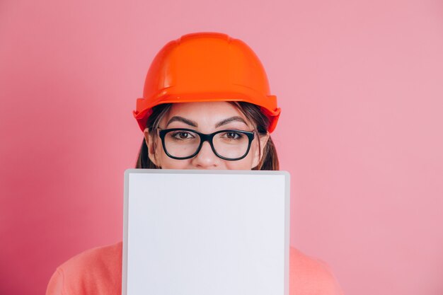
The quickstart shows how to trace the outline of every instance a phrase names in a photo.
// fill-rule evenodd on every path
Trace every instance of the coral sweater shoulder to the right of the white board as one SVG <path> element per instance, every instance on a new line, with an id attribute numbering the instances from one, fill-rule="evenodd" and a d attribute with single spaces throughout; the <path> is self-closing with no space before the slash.
<path id="1" fill-rule="evenodd" d="M 326 262 L 292 247 L 289 250 L 289 290 L 291 295 L 343 295 Z"/>

